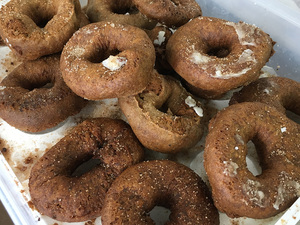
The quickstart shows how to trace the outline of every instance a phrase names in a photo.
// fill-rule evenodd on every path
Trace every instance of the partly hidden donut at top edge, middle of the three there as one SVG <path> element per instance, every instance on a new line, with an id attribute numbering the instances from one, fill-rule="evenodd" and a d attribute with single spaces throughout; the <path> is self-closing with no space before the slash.
<path id="1" fill-rule="evenodd" d="M 109 21 L 152 29 L 157 21 L 140 13 L 132 0 L 89 0 L 86 8 L 91 22 Z"/>

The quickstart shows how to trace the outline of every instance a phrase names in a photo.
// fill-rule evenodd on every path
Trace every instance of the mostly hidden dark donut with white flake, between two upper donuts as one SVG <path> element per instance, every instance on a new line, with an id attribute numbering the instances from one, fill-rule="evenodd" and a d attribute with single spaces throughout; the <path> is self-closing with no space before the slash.
<path id="1" fill-rule="evenodd" d="M 173 69 L 166 59 L 166 45 L 172 36 L 172 31 L 166 26 L 158 25 L 152 30 L 146 30 L 146 33 L 155 48 L 156 60 L 154 68 L 160 74 L 170 74 L 173 72 Z"/>

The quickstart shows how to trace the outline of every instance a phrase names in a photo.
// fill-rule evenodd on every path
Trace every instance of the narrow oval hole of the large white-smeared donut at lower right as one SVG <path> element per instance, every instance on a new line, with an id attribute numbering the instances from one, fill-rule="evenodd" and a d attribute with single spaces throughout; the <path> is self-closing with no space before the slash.
<path id="1" fill-rule="evenodd" d="M 254 175 L 258 176 L 262 174 L 262 168 L 260 166 L 259 156 L 255 144 L 252 141 L 247 143 L 247 156 L 246 164 L 248 170 Z"/>

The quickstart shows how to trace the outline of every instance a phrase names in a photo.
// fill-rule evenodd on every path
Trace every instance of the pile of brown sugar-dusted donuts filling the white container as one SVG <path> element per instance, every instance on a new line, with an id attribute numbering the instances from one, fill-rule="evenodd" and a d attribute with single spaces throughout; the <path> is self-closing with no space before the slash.
<path id="1" fill-rule="evenodd" d="M 40 12 L 43 13 L 40 13 Z M 89 102 L 117 98 L 126 121 L 88 118 L 33 166 L 36 209 L 53 219 L 102 224 L 219 224 L 268 218 L 299 196 L 300 84 L 259 78 L 274 54 L 260 28 L 202 16 L 195 0 L 11 0 L 0 36 L 21 64 L 0 83 L 0 117 L 25 132 L 47 132 Z M 233 94 L 208 115 L 206 104 Z M 274 97 L 275 96 L 275 97 Z M 185 152 L 205 136 L 208 185 L 172 160 L 144 151 Z M 247 168 L 255 143 L 263 172 Z M 96 165 L 74 171 L 89 160 Z M 274 185 L 276 184 L 276 185 Z"/>

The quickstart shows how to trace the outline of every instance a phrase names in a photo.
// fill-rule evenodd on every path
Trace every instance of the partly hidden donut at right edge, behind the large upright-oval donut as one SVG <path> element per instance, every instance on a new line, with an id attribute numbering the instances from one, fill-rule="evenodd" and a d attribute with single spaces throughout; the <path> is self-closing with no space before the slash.
<path id="1" fill-rule="evenodd" d="M 287 77 L 260 78 L 240 91 L 233 93 L 229 104 L 262 102 L 286 113 L 290 110 L 300 115 L 300 83 Z"/>

